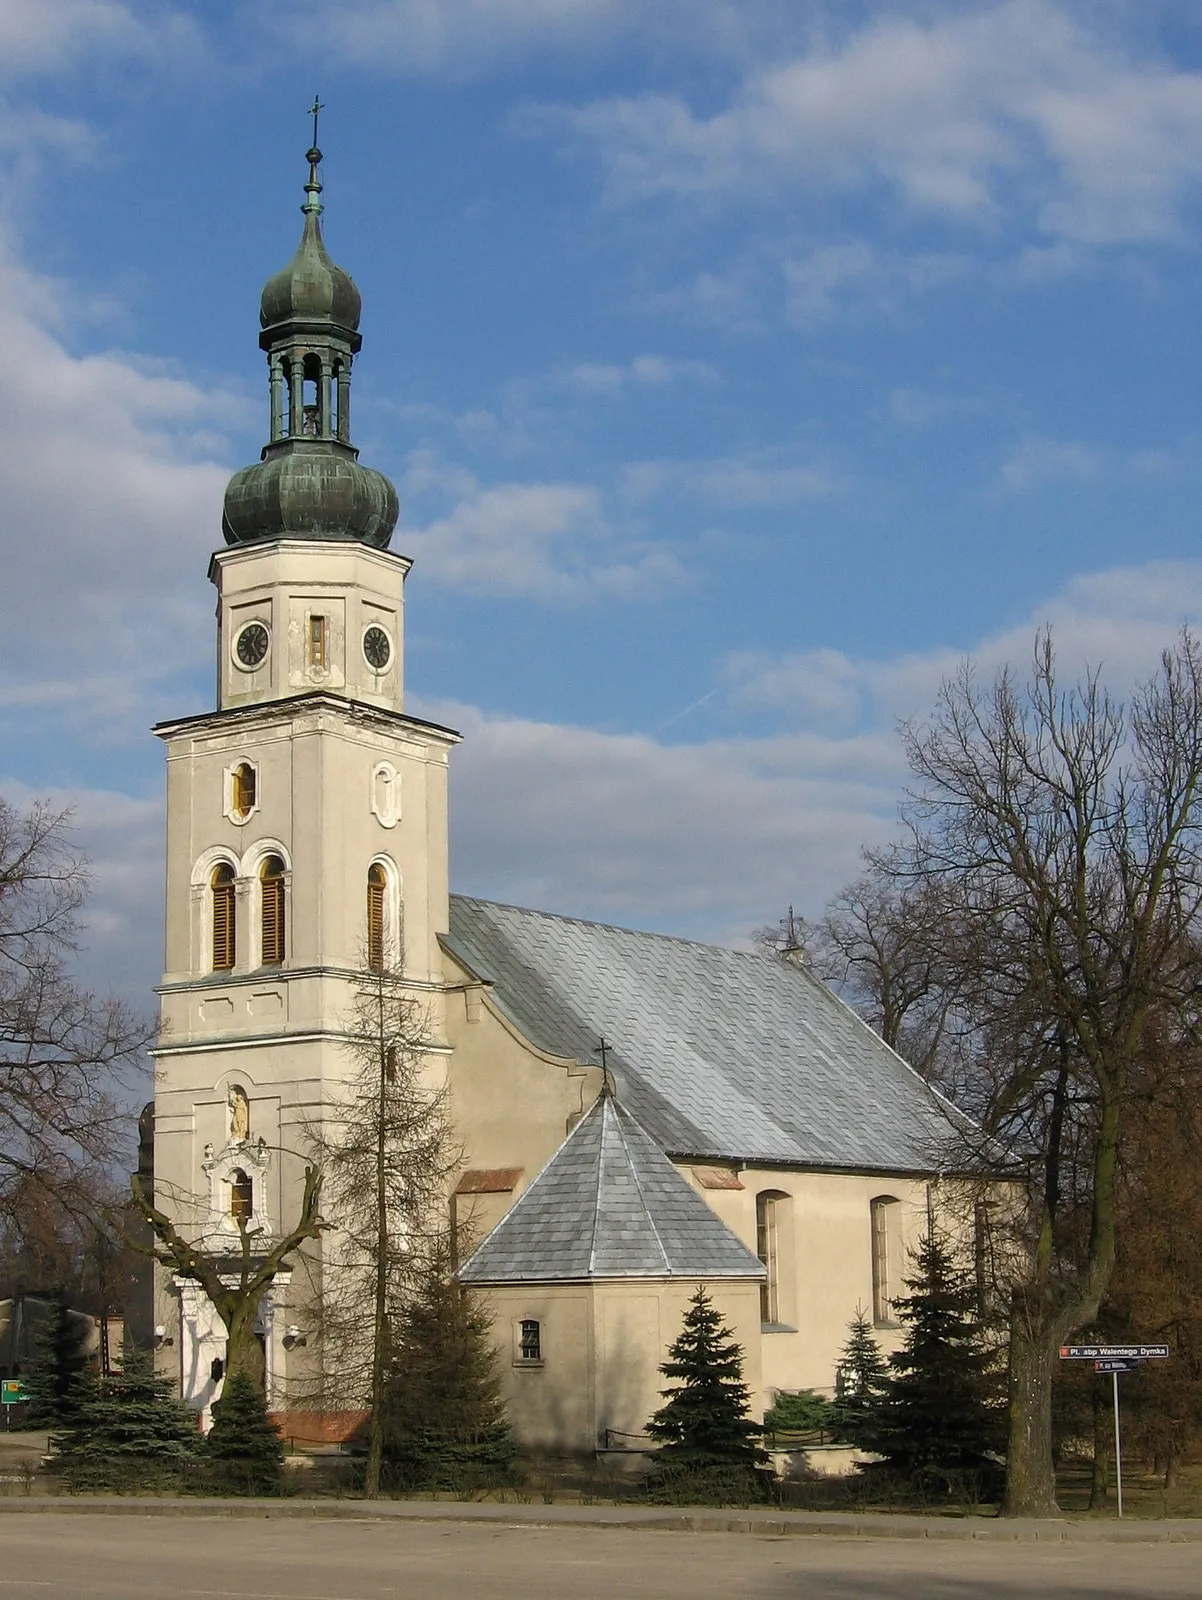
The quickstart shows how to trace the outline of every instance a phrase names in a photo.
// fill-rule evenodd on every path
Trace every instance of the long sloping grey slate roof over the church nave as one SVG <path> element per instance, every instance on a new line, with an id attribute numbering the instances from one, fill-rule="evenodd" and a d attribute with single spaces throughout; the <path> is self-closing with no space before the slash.
<path id="1" fill-rule="evenodd" d="M 451 896 L 450 952 L 533 1045 L 597 1064 L 677 1158 L 936 1171 L 951 1106 L 773 955 Z"/>

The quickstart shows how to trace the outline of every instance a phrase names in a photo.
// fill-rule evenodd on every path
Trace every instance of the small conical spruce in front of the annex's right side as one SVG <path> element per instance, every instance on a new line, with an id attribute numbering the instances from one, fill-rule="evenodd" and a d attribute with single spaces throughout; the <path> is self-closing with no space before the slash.
<path id="1" fill-rule="evenodd" d="M 680 1336 L 659 1368 L 671 1379 L 664 1405 L 647 1424 L 659 1442 L 647 1488 L 672 1499 L 763 1499 L 763 1429 L 747 1414 L 743 1350 L 699 1288 Z"/>

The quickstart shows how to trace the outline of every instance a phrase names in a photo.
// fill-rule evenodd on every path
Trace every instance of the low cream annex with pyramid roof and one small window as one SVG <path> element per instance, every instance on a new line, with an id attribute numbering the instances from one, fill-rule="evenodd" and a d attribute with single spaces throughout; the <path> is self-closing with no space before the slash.
<path id="1" fill-rule="evenodd" d="M 698 1288 L 759 1390 L 763 1277 L 608 1088 L 459 1270 L 493 1314 L 514 1432 L 571 1454 L 647 1442 L 664 1344 Z"/>

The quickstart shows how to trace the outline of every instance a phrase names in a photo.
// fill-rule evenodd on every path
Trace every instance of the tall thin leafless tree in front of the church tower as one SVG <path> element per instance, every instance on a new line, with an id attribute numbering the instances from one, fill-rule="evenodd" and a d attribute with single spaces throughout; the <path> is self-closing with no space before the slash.
<path id="1" fill-rule="evenodd" d="M 400 971 L 362 974 L 346 1030 L 351 1074 L 311 1133 L 338 1224 L 322 1272 L 322 1381 L 370 1406 L 363 1486 L 376 1496 L 392 1328 L 445 1246 L 458 1154 L 431 1022 Z"/>

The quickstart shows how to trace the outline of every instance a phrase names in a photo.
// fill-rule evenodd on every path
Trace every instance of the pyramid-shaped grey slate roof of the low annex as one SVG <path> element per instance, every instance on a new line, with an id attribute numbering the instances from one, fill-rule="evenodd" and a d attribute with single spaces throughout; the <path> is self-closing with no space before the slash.
<path id="1" fill-rule="evenodd" d="M 762 1278 L 763 1267 L 611 1094 L 459 1269 L 463 1283 Z"/>

